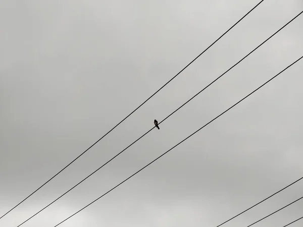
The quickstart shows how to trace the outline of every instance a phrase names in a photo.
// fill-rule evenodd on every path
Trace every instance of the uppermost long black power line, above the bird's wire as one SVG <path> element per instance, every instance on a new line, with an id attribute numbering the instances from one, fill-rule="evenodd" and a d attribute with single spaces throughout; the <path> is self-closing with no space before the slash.
<path id="1" fill-rule="evenodd" d="M 27 196 L 25 199 L 23 199 L 20 203 L 18 203 L 16 206 L 14 206 L 12 209 L 10 209 L 7 213 L 5 213 L 3 216 L 0 217 L 3 218 L 5 215 L 7 215 L 9 212 L 11 212 L 13 209 L 15 209 L 17 206 L 19 206 L 21 203 L 23 203 L 25 200 L 27 200 L 30 196 L 32 196 L 34 193 L 36 193 L 39 189 L 41 189 L 44 185 L 46 185 L 48 182 L 53 180 L 55 177 L 57 177 L 64 169 L 66 169 L 69 165 L 71 165 L 74 161 L 76 161 L 79 157 L 81 157 L 86 151 L 88 151 L 90 148 L 92 148 L 96 143 L 98 143 L 100 140 L 102 140 L 105 136 L 107 136 L 110 132 L 112 132 L 116 127 L 118 127 L 122 122 L 124 122 L 128 117 L 130 117 L 137 109 L 139 109 L 143 104 L 145 104 L 150 98 L 152 98 L 155 94 L 157 94 L 162 88 L 164 88 L 166 85 L 168 85 L 173 79 L 175 79 L 180 73 L 182 73 L 188 66 L 190 66 L 195 60 L 199 58 L 203 53 L 205 53 L 209 48 L 211 48 L 217 41 L 219 41 L 226 33 L 228 33 L 234 26 L 236 26 L 241 20 L 243 20 L 249 13 L 251 13 L 253 10 L 255 10 L 264 0 L 260 1 L 254 8 L 252 8 L 248 13 L 246 13 L 240 20 L 238 20 L 233 26 L 231 26 L 226 32 L 224 32 L 216 41 L 214 41 L 209 47 L 207 47 L 203 52 L 201 52 L 198 56 L 196 56 L 195 59 L 193 59 L 187 66 L 185 66 L 179 73 L 177 73 L 173 78 L 171 78 L 166 84 L 164 84 L 161 88 L 159 88 L 153 95 L 151 95 L 149 98 L 147 98 L 144 102 L 142 102 L 137 108 L 135 108 L 129 115 L 127 115 L 122 121 L 120 121 L 114 128 L 112 128 L 110 131 L 108 131 L 104 136 L 102 136 L 100 139 L 98 139 L 94 144 L 92 144 L 90 147 L 88 147 L 84 152 L 82 152 L 78 157 L 76 157 L 73 161 L 71 161 L 68 165 L 66 165 L 61 171 L 59 171 L 56 175 L 54 175 L 51 179 L 46 181 L 43 185 L 41 185 L 39 188 L 37 188 L 34 192 L 32 192 L 29 196 Z M 154 129 L 154 128 L 153 128 Z"/>

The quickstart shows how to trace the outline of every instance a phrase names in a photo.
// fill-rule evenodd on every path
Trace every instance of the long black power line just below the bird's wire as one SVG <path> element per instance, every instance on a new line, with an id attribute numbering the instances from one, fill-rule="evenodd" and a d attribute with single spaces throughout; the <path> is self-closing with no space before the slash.
<path id="1" fill-rule="evenodd" d="M 187 140 L 188 138 L 190 138 L 191 136 L 193 136 L 195 133 L 197 133 L 198 131 L 200 131 L 201 129 L 205 128 L 206 126 L 208 126 L 209 124 L 211 124 L 213 121 L 215 121 L 216 119 L 218 119 L 219 117 L 221 117 L 222 115 L 224 115 L 224 113 L 226 113 L 227 111 L 229 111 L 231 108 L 233 108 L 234 106 L 236 106 L 237 104 L 239 104 L 241 101 L 243 101 L 244 99 L 246 99 L 248 96 L 250 96 L 251 94 L 255 93 L 257 90 L 259 90 L 260 88 L 262 88 L 264 85 L 266 85 L 267 83 L 269 83 L 270 81 L 272 81 L 274 78 L 276 78 L 277 76 L 279 76 L 281 73 L 283 73 L 285 70 L 287 70 L 289 67 L 291 67 L 292 65 L 294 65 L 295 63 L 297 63 L 298 61 L 300 61 L 303 58 L 303 56 L 301 56 L 298 60 L 296 60 L 295 62 L 293 62 L 292 64 L 290 64 L 289 66 L 287 66 L 285 69 L 283 69 L 280 73 L 278 73 L 276 76 L 272 77 L 270 80 L 268 80 L 267 82 L 265 82 L 264 84 L 262 84 L 260 87 L 258 87 L 256 90 L 250 92 L 248 95 L 246 95 L 244 98 L 242 98 L 241 100 L 239 100 L 238 102 L 236 102 L 234 105 L 232 105 L 231 107 L 229 107 L 228 109 L 226 109 L 224 112 L 222 112 L 220 115 L 218 115 L 216 118 L 214 118 L 213 120 L 211 120 L 209 123 L 207 123 L 206 125 L 204 125 L 203 127 L 199 128 L 197 131 L 195 131 L 194 133 L 192 133 L 191 135 L 189 135 L 188 137 L 186 137 L 185 139 L 183 139 L 181 142 L 179 142 L 178 144 L 176 144 L 175 146 L 173 146 L 171 149 L 169 149 L 168 151 L 166 151 L 165 153 L 163 153 L 162 155 L 160 155 L 159 157 L 157 157 L 156 159 L 154 159 L 153 161 L 149 162 L 147 165 L 145 165 L 144 167 L 142 167 L 141 169 L 139 169 L 139 171 L 137 171 L 136 173 L 134 173 L 133 175 L 131 175 L 130 177 L 128 177 L 127 179 L 125 179 L 124 181 L 122 181 L 120 184 L 116 185 L 114 188 L 112 188 L 111 190 L 109 190 L 108 192 L 106 192 L 105 194 L 103 194 L 102 196 L 98 197 L 97 199 L 95 199 L 94 201 L 92 201 L 91 203 L 87 204 L 86 206 L 84 206 L 82 209 L 78 210 L 77 212 L 75 212 L 74 214 L 72 214 L 71 216 L 67 217 L 66 219 L 64 219 L 63 221 L 61 221 L 60 223 L 58 223 L 57 225 L 55 225 L 54 227 L 57 227 L 58 225 L 62 224 L 63 222 L 65 222 L 66 220 L 68 220 L 69 218 L 71 218 L 72 216 L 76 215 L 77 213 L 79 213 L 80 211 L 84 210 L 86 207 L 90 206 L 91 204 L 93 204 L 94 202 L 96 202 L 97 200 L 99 200 L 100 198 L 104 197 L 105 195 L 107 195 L 108 193 L 110 193 L 111 191 L 113 191 L 114 189 L 116 189 L 117 187 L 119 187 L 120 185 L 122 185 L 124 182 L 128 181 L 130 178 L 132 178 L 133 176 L 135 176 L 136 174 L 138 174 L 139 172 L 141 172 L 144 168 L 146 168 L 148 165 L 154 163 L 155 161 L 157 161 L 159 158 L 161 158 L 162 156 L 164 156 L 165 154 L 167 154 L 169 151 L 171 151 L 172 149 L 174 149 L 175 147 L 177 147 L 178 145 L 180 145 L 181 143 L 183 143 L 185 140 Z M 303 197 L 302 197 L 303 198 Z"/>

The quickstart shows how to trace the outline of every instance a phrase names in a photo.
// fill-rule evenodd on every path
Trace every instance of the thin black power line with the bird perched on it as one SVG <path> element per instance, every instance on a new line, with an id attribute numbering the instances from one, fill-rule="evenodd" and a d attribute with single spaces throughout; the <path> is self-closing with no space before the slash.
<path id="1" fill-rule="evenodd" d="M 221 76 L 219 76 L 217 79 L 215 79 L 212 83 L 210 83 L 209 85 L 207 85 L 205 88 L 203 88 L 201 91 L 199 91 L 197 94 L 195 94 L 193 97 L 191 97 L 189 100 L 187 100 L 184 104 L 182 104 L 180 107 L 178 107 L 175 111 L 173 111 L 172 113 L 170 113 L 169 116 L 167 116 L 163 121 L 161 121 L 159 124 L 161 124 L 162 122 L 164 122 L 166 119 L 168 119 L 169 117 L 171 117 L 176 111 L 178 111 L 180 108 L 182 108 L 185 104 L 187 104 L 189 101 L 191 101 L 193 98 L 195 98 L 198 94 L 200 94 L 201 92 L 203 92 L 206 88 L 208 88 L 209 86 L 211 86 L 213 83 L 215 83 L 218 79 L 220 79 L 223 75 L 225 75 L 227 72 L 229 72 L 231 69 L 233 69 L 235 66 L 237 66 L 240 62 L 242 62 L 245 58 L 247 58 L 247 56 L 249 56 L 252 52 L 254 52 L 255 50 L 257 50 L 259 47 L 261 47 L 264 43 L 266 43 L 269 39 L 271 39 L 274 35 L 276 35 L 279 31 L 281 31 L 283 28 L 285 28 L 289 23 L 291 23 L 293 20 L 295 20 L 300 14 L 302 14 L 303 11 L 301 13 L 299 13 L 297 16 L 295 16 L 293 19 L 291 19 L 288 23 L 286 23 L 282 28 L 280 28 L 278 31 L 276 31 L 273 35 L 271 35 L 269 38 L 267 38 L 264 42 L 262 42 L 260 45 L 258 45 L 254 50 L 250 51 L 248 54 L 246 54 L 244 56 L 244 58 L 242 58 L 239 62 L 237 62 L 235 65 L 233 65 L 231 68 L 229 68 L 227 71 L 225 71 Z M 53 203 L 55 203 L 57 200 L 59 200 L 60 198 L 62 198 L 64 195 L 66 195 L 67 193 L 69 193 L 71 190 L 73 190 L 75 187 L 77 187 L 78 185 L 80 185 L 82 182 L 84 182 L 86 179 L 88 179 L 90 176 L 92 176 L 93 174 L 95 174 L 97 171 L 99 171 L 99 169 L 103 168 L 105 165 L 107 165 L 109 162 L 111 162 L 113 159 L 115 159 L 117 156 L 119 156 L 121 153 L 123 153 L 126 149 L 128 149 L 129 147 L 131 147 L 133 144 L 135 144 L 138 140 L 140 140 L 141 138 L 143 138 L 146 134 L 148 134 L 151 130 L 153 130 L 155 127 L 151 128 L 149 131 L 147 131 L 146 133 L 144 133 L 142 136 L 140 136 L 137 140 L 135 140 L 134 142 L 132 142 L 130 145 L 128 145 L 126 148 L 124 148 L 122 151 L 120 151 L 118 154 L 116 154 L 114 157 L 112 157 L 110 160 L 108 160 L 106 163 L 104 163 L 102 166 L 100 166 L 99 168 L 97 168 L 94 172 L 92 172 L 90 175 L 88 175 L 86 178 L 84 178 L 82 181 L 80 181 L 78 184 L 76 184 L 74 187 L 72 187 L 71 189 L 69 189 L 67 192 L 65 192 L 63 195 L 61 195 L 60 197 L 58 197 L 56 200 L 54 200 L 53 202 L 49 203 L 47 206 L 45 206 L 44 208 L 42 208 L 41 210 L 39 210 L 37 213 L 35 213 L 34 215 L 32 215 L 31 217 L 29 217 L 27 220 L 25 220 L 24 222 L 22 222 L 20 225 L 18 225 L 17 227 L 21 226 L 22 224 L 24 224 L 25 222 L 27 222 L 28 220 L 30 220 L 31 218 L 33 218 L 34 216 L 36 216 L 38 213 L 40 213 L 41 211 L 43 211 L 44 209 L 46 209 L 48 206 L 52 205 Z"/>

